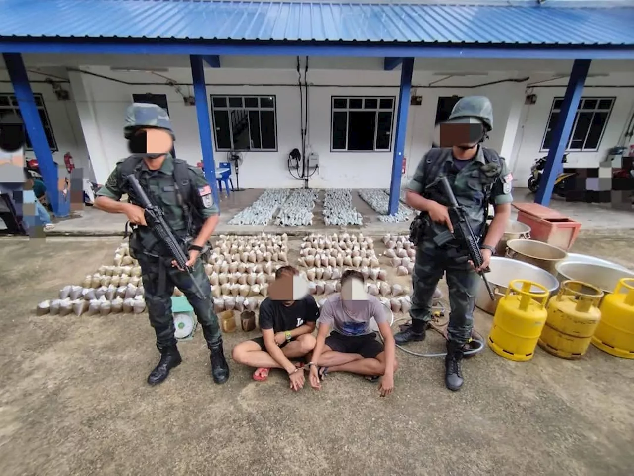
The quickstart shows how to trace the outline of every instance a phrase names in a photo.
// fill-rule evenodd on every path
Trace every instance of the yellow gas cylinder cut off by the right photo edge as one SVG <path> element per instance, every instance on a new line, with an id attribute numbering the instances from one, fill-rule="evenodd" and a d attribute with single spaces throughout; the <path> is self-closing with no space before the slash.
<path id="1" fill-rule="evenodd" d="M 623 278 L 603 298 L 601 321 L 592 336 L 595 347 L 623 359 L 634 359 L 634 278 Z"/>

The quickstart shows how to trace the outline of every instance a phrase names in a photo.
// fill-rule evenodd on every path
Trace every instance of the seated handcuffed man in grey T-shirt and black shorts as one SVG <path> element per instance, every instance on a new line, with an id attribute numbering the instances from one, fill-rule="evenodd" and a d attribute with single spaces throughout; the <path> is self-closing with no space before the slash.
<path id="1" fill-rule="evenodd" d="M 344 272 L 341 293 L 330 296 L 321 308 L 317 343 L 308 364 L 313 388 L 321 388 L 320 380 L 328 372 L 350 372 L 364 375 L 368 380 L 381 376 L 381 396 L 392 393 L 396 345 L 386 311 L 381 301 L 366 294 L 360 272 Z M 370 329 L 372 317 L 378 324 L 385 350 Z M 332 333 L 327 337 L 331 327 Z"/>

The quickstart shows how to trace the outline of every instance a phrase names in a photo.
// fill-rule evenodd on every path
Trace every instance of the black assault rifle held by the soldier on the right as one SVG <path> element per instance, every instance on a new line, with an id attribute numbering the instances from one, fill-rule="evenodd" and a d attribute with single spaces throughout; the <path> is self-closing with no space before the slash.
<path id="1" fill-rule="evenodd" d="M 449 230 L 445 230 L 434 237 L 434 242 L 436 242 L 437 246 L 443 246 L 451 240 L 456 239 L 460 248 L 467 250 L 467 255 L 458 258 L 458 261 L 463 262 L 471 260 L 471 262 L 474 263 L 474 266 L 479 268 L 482 266 L 482 263 L 484 263 L 484 259 L 482 258 L 479 243 L 475 238 L 474 230 L 471 228 L 467 215 L 465 214 L 465 210 L 458 204 L 456 195 L 453 194 L 453 190 L 451 190 L 451 185 L 449 184 L 446 176 L 443 176 L 440 179 L 440 183 L 444 188 L 444 193 L 449 199 L 450 206 L 448 207 L 448 211 L 449 218 L 451 219 L 451 225 L 453 225 L 453 234 Z M 484 285 L 486 286 L 486 290 L 489 292 L 491 301 L 495 301 L 495 294 L 493 294 L 491 284 L 489 284 L 488 279 L 486 279 L 486 276 L 484 275 L 484 273 L 488 273 L 489 271 L 491 270 L 487 267 L 484 270 L 479 271 L 478 274 L 484 281 Z"/>

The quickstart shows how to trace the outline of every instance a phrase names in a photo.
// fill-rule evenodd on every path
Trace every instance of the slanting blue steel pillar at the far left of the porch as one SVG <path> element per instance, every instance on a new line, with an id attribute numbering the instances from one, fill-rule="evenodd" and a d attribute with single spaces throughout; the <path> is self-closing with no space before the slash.
<path id="1" fill-rule="evenodd" d="M 37 112 L 36 101 L 29 84 L 29 76 L 27 76 L 27 69 L 24 67 L 20 53 L 3 53 L 3 56 L 13 84 L 15 98 L 20 106 L 24 127 L 27 135 L 29 135 L 33 152 L 36 154 L 44 185 L 46 185 L 51 208 L 53 208 L 53 213 L 57 213 L 59 206 L 57 167 L 55 162 L 53 162 L 53 154 L 51 154 L 51 149 L 49 149 L 48 140 L 46 140 L 46 134 L 44 134 L 44 126 L 42 126 L 42 120 Z M 26 166 L 26 163 L 24 166 Z"/>

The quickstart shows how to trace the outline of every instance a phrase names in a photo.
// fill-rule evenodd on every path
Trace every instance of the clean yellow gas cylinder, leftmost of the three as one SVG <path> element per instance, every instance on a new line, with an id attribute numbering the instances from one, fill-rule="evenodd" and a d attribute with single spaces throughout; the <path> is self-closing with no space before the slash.
<path id="1" fill-rule="evenodd" d="M 538 288 L 540 291 L 533 291 Z M 514 279 L 500 298 L 489 333 L 489 347 L 505 359 L 533 359 L 548 312 L 548 289 L 536 282 Z"/>

